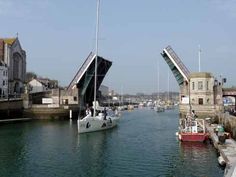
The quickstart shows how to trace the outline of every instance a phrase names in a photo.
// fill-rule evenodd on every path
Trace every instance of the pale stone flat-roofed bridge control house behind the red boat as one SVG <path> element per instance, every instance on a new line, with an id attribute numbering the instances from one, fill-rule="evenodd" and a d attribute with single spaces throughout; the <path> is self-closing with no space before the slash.
<path id="1" fill-rule="evenodd" d="M 180 90 L 180 112 L 184 115 L 189 111 L 189 102 L 200 117 L 223 111 L 222 83 L 208 72 L 191 73 L 188 84 Z"/>

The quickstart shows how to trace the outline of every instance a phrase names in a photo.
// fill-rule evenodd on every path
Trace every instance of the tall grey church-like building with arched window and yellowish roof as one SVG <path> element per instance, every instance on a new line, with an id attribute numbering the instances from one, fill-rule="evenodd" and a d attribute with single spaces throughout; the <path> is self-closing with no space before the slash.
<path id="1" fill-rule="evenodd" d="M 8 67 L 9 94 L 20 95 L 24 92 L 26 52 L 18 38 L 0 38 L 0 60 Z"/>

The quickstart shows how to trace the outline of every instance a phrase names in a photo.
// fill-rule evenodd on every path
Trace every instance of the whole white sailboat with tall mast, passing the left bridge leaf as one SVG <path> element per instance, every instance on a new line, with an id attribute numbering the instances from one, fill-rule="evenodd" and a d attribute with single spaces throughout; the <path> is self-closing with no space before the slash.
<path id="1" fill-rule="evenodd" d="M 99 8 L 100 0 L 97 0 L 97 23 L 96 23 L 96 58 L 94 74 L 94 101 L 93 115 L 90 110 L 86 110 L 87 115 L 83 119 L 78 118 L 78 133 L 95 132 L 113 128 L 117 125 L 120 117 L 115 111 L 113 115 L 108 115 L 106 108 L 100 107 L 96 100 L 97 91 L 97 59 L 98 59 L 98 32 L 99 32 Z"/>

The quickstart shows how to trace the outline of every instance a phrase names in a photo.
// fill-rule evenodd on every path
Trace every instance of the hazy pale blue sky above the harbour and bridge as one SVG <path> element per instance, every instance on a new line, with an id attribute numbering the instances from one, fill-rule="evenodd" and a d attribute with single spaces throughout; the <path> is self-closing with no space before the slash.
<path id="1" fill-rule="evenodd" d="M 27 71 L 69 85 L 95 51 L 96 0 L 0 0 L 0 37 L 16 37 Z M 99 55 L 113 62 L 103 84 L 119 93 L 168 89 L 160 55 L 171 45 L 191 72 L 236 85 L 236 0 L 101 0 Z M 170 91 L 179 86 L 170 73 Z"/>

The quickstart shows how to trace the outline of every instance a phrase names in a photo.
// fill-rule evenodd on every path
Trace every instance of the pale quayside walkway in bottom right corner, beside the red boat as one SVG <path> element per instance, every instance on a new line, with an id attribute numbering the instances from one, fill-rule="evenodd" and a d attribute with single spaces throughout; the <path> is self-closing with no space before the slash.
<path id="1" fill-rule="evenodd" d="M 216 149 L 226 162 L 225 177 L 236 176 L 236 142 L 233 139 L 226 139 L 224 144 L 219 144 L 218 136 L 214 132 L 214 126 L 206 124 L 206 129 Z"/>

